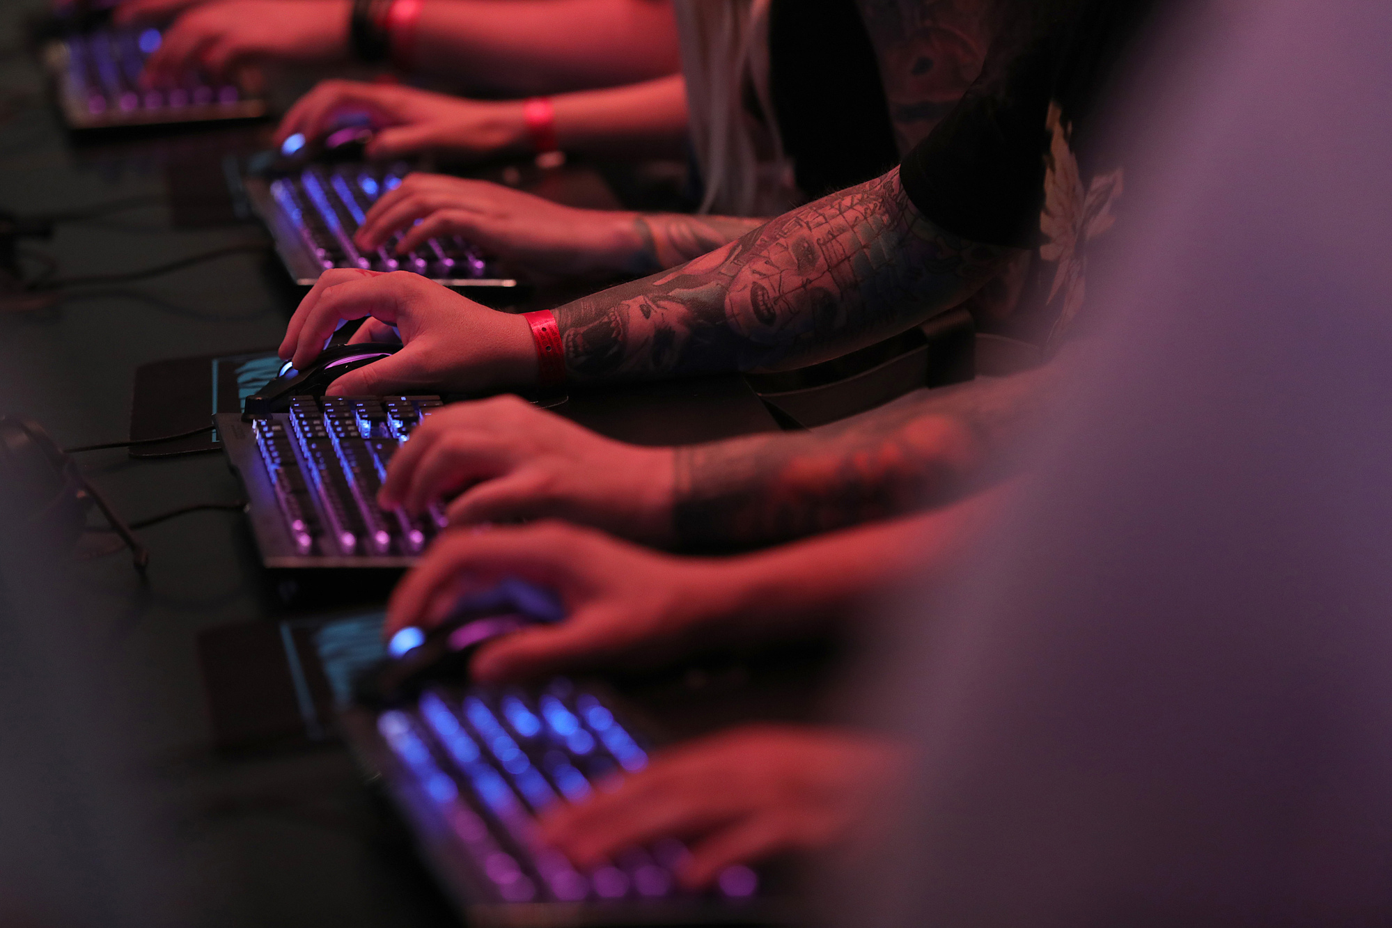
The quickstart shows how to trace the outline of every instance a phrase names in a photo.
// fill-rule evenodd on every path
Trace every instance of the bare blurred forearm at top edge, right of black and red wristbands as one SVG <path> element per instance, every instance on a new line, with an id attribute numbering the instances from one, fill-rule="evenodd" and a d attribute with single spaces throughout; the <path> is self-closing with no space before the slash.
<path id="1" fill-rule="evenodd" d="M 617 86 L 681 67 L 667 0 L 430 0 L 412 57 L 498 96 Z"/>

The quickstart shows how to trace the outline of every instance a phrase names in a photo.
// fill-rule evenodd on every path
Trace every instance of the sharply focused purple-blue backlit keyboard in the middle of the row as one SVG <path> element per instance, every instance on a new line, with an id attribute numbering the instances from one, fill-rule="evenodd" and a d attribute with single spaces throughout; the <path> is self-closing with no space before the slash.
<path id="1" fill-rule="evenodd" d="M 445 526 L 383 511 L 387 462 L 438 397 L 295 397 L 288 413 L 216 416 L 266 566 L 406 566 Z"/>

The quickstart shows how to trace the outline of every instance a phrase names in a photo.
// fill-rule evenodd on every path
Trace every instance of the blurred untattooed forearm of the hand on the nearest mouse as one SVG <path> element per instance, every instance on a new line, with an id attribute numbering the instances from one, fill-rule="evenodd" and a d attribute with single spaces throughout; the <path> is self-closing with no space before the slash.
<path id="1" fill-rule="evenodd" d="M 844 529 L 717 562 L 715 637 L 734 643 L 824 633 L 887 589 L 952 572 L 1009 484 L 916 516 Z"/>

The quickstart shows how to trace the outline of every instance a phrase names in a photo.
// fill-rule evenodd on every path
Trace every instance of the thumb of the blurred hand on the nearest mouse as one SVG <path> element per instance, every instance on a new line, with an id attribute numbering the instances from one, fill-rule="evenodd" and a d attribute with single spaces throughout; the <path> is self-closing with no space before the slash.
<path id="1" fill-rule="evenodd" d="M 518 683 L 585 669 L 618 647 L 606 625 L 579 609 L 558 625 L 514 632 L 479 648 L 469 673 L 482 683 Z"/>

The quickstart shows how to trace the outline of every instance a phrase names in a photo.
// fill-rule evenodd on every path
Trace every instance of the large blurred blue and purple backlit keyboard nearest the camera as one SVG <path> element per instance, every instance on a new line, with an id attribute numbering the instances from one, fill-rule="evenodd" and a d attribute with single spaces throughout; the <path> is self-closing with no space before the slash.
<path id="1" fill-rule="evenodd" d="M 537 814 L 647 765 L 646 740 L 590 689 L 565 679 L 532 691 L 437 685 L 380 714 L 355 707 L 342 725 L 469 925 L 780 921 L 748 867 L 727 868 L 710 892 L 678 888 L 688 850 L 675 839 L 587 871 L 539 843 Z"/>

